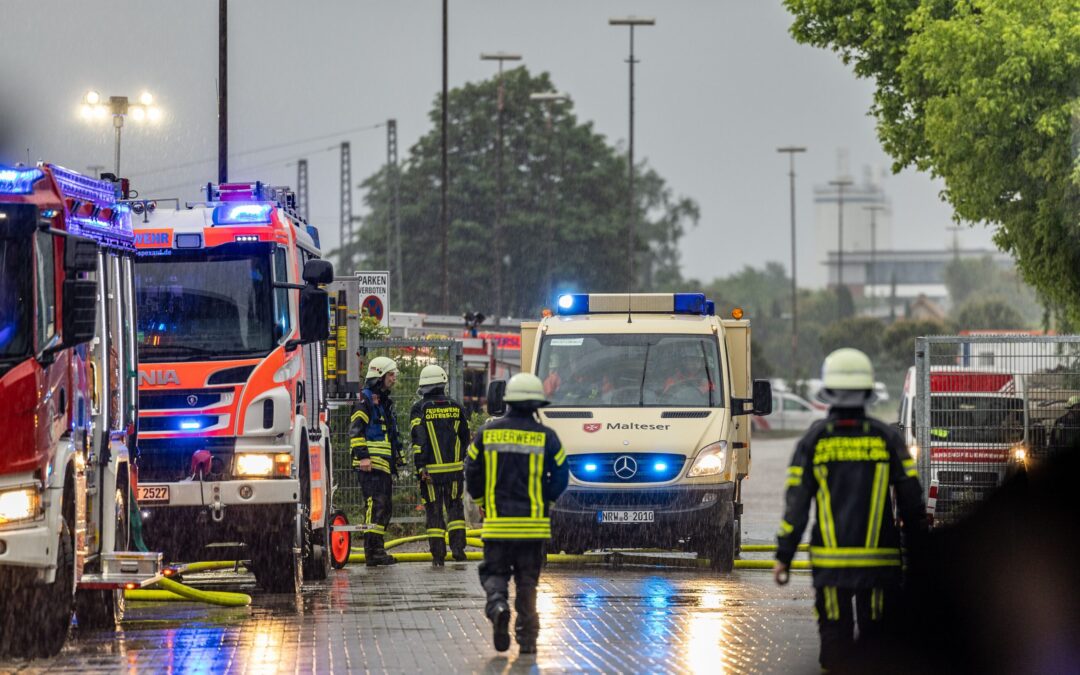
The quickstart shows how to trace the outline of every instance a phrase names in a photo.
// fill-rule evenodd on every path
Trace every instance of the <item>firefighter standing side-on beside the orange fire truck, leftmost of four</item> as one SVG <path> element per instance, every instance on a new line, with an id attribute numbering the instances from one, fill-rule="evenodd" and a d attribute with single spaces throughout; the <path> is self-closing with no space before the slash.
<path id="1" fill-rule="evenodd" d="M 397 561 L 383 548 L 393 498 L 393 476 L 401 464 L 397 422 L 390 391 L 397 380 L 393 359 L 376 356 L 367 366 L 364 390 L 349 422 L 349 447 L 366 503 L 364 562 L 368 567 L 393 565 Z"/>

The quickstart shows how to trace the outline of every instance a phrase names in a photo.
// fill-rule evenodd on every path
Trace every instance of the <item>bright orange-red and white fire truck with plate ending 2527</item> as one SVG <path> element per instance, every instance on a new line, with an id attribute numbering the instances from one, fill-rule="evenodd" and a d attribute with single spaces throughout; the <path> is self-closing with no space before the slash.
<path id="1" fill-rule="evenodd" d="M 148 544 L 173 562 L 248 559 L 270 592 L 325 578 L 329 305 L 319 284 L 334 268 L 319 231 L 287 188 L 261 183 L 133 208 Z"/>

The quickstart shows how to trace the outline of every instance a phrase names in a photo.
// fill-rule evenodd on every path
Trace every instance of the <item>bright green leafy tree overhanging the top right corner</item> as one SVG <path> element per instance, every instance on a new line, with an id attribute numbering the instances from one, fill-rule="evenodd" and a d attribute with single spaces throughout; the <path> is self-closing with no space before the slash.
<path id="1" fill-rule="evenodd" d="M 784 0 L 792 33 L 876 83 L 900 171 L 945 181 L 1052 307 L 1080 316 L 1077 0 Z"/>

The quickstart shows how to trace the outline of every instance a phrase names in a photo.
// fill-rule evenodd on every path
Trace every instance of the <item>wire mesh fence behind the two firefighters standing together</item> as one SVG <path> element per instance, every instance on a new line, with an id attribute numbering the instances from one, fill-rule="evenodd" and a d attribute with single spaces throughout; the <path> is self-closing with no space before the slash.
<path id="1" fill-rule="evenodd" d="M 393 400 L 397 414 L 397 430 L 401 434 L 402 448 L 408 462 L 400 470 L 394 482 L 394 511 L 392 522 L 397 524 L 416 524 L 423 522 L 420 505 L 417 477 L 413 472 L 411 450 L 408 442 L 408 414 L 413 404 L 419 397 L 420 370 L 427 365 L 440 365 L 450 378 L 448 393 L 461 399 L 462 355 L 461 342 L 458 340 L 367 340 L 360 342 L 360 372 L 367 369 L 367 364 L 376 356 L 390 356 L 397 362 L 397 381 L 394 384 Z M 349 453 L 349 418 L 356 402 L 356 394 L 343 394 L 329 401 L 330 443 L 334 451 L 334 507 L 343 510 L 349 515 L 350 523 L 362 523 L 364 518 L 363 496 L 360 483 L 352 471 L 352 458 Z M 406 527 L 406 529 L 410 529 Z"/>

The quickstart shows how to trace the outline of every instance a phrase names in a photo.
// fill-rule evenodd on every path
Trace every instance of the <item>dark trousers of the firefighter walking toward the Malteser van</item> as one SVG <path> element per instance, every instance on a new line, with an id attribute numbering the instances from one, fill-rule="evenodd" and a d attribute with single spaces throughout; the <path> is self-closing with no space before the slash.
<path id="1" fill-rule="evenodd" d="M 536 644 L 540 634 L 537 615 L 537 583 L 543 564 L 542 541 L 484 542 L 484 562 L 480 564 L 480 583 L 487 593 L 485 613 L 495 619 L 500 603 L 510 603 L 510 577 L 514 578 L 514 633 L 517 644 Z"/>

